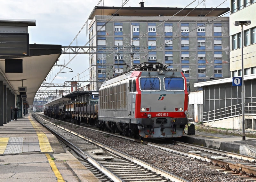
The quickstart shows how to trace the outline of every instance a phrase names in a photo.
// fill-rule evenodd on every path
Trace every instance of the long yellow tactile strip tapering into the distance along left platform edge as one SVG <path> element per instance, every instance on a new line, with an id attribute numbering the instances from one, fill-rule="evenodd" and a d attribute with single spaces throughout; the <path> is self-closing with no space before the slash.
<path id="1" fill-rule="evenodd" d="M 49 140 L 47 136 L 44 134 L 44 132 L 36 125 L 36 123 L 29 116 L 28 119 L 36 131 L 41 152 L 53 152 L 52 146 L 50 145 Z"/>

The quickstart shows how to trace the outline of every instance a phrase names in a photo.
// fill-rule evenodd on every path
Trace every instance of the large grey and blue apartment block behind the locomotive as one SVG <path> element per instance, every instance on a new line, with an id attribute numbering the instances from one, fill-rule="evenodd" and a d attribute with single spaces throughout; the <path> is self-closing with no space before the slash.
<path id="1" fill-rule="evenodd" d="M 131 65 L 132 34 L 134 65 L 171 64 L 169 67 L 184 73 L 190 91 L 202 89 L 194 83 L 230 77 L 229 17 L 218 18 L 229 8 L 140 6 L 122 7 L 117 14 L 119 7 L 93 9 L 89 17 L 90 45 L 97 48 L 90 54 L 91 90 L 98 90 L 101 82 L 113 75 L 110 65 L 118 62 L 118 56 L 119 63 Z M 126 66 L 119 66 L 119 71 L 114 68 L 119 73 Z"/>

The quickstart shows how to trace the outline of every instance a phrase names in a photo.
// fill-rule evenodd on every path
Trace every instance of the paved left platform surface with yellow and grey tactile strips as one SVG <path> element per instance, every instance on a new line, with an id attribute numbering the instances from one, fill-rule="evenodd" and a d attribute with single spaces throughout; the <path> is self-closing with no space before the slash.
<path id="1" fill-rule="evenodd" d="M 31 115 L 0 127 L 0 182 L 100 182 Z"/>

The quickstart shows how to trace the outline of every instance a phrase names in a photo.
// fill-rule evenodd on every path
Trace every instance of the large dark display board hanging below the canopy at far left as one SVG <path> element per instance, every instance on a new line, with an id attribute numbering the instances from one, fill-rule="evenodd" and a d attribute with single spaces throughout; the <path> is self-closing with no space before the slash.
<path id="1" fill-rule="evenodd" d="M 0 56 L 29 56 L 29 35 L 0 33 Z"/>

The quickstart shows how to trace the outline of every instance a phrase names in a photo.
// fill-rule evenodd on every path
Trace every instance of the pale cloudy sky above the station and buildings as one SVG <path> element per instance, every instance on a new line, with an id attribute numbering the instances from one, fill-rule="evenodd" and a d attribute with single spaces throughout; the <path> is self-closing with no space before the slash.
<path id="1" fill-rule="evenodd" d="M 196 7 L 202 0 L 197 0 L 189 7 Z M 36 20 L 36 27 L 28 27 L 30 44 L 61 44 L 68 46 L 76 37 L 79 30 L 83 27 L 93 8 L 99 0 L 1 0 L 1 18 L 2 19 L 31 19 Z M 100 6 L 121 6 L 124 0 L 102 0 Z M 144 0 L 145 2 L 145 0 Z M 145 7 L 185 7 L 193 0 L 147 0 Z M 224 3 L 223 3 L 224 2 Z M 139 1 L 128 0 L 126 6 L 139 7 Z M 220 5 L 223 3 L 222 5 Z M 220 6 L 219 6 L 220 5 Z M 200 7 L 203 3 L 200 4 Z M 205 0 L 205 6 L 211 7 L 230 7 L 229 0 Z M 227 15 L 228 16 L 228 15 Z M 86 27 L 77 37 L 77 45 L 84 46 L 86 43 Z M 72 44 L 76 45 L 76 41 Z M 71 55 L 71 58 L 73 55 Z M 65 55 L 65 63 L 69 61 L 69 55 Z M 64 64 L 64 56 L 61 55 L 58 64 Z M 70 81 L 72 77 L 80 75 L 81 80 L 89 79 L 89 55 L 77 55 L 68 66 L 73 70 L 71 73 L 60 73 L 53 83 L 64 83 Z M 56 73 L 60 67 L 54 68 Z M 62 72 L 69 71 L 64 68 Z M 53 76 L 55 73 L 53 72 Z M 52 78 L 52 76 L 51 76 Z M 77 79 L 77 78 L 76 78 Z M 74 78 L 75 80 L 75 78 Z M 48 80 L 47 80 L 48 81 Z M 87 83 L 88 84 L 88 83 Z M 83 83 L 86 85 L 86 83 Z M 53 90 L 56 90 L 54 88 Z"/>

